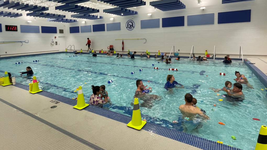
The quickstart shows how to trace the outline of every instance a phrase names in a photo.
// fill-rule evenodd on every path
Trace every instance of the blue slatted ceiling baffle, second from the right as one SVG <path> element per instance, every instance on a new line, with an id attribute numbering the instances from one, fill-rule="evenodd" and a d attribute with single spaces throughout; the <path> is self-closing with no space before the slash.
<path id="1" fill-rule="evenodd" d="M 160 0 L 150 2 L 149 4 L 161 11 L 170 11 L 186 8 L 186 6 L 179 0 Z"/>

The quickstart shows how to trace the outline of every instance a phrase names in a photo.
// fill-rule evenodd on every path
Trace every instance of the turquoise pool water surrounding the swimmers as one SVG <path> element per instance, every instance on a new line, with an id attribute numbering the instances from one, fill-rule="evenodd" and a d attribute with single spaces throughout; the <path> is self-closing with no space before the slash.
<path id="1" fill-rule="evenodd" d="M 209 140 L 223 141 L 223 144 L 244 150 L 254 149 L 259 129 L 267 121 L 266 90 L 261 90 L 265 87 L 242 61 L 233 61 L 231 65 L 225 65 L 217 60 L 196 62 L 188 59 L 179 61 L 173 59 L 172 64 L 165 64 L 157 63 L 158 60 L 154 58 L 146 59 L 138 56 L 135 56 L 135 60 L 126 56 L 122 58 L 104 55 L 92 57 L 91 54 L 69 56 L 73 54 L 46 54 L 3 59 L 0 60 L 1 76 L 4 75 L 4 71 L 7 71 L 12 76 L 16 76 L 16 82 L 28 85 L 32 82 L 32 76 L 19 77 L 18 72 L 24 72 L 26 67 L 30 66 L 40 82 L 41 89 L 73 98 L 77 97 L 77 92 L 74 90 L 81 85 L 87 103 L 92 94 L 91 85 L 105 84 L 112 104 L 106 104 L 104 107 L 129 116 L 132 114 L 131 103 L 134 101 L 136 80 L 140 79 L 144 85 L 152 88 L 150 94 L 161 97 L 160 100 L 153 101 L 148 108 L 140 107 L 142 119 Z M 33 62 L 33 60 L 40 61 Z M 23 63 L 15 64 L 15 62 Z M 159 69 L 153 69 L 152 64 Z M 179 71 L 170 71 L 168 68 L 177 68 Z M 143 71 L 140 72 L 139 69 Z M 242 102 L 227 101 L 226 97 L 222 97 L 226 92 L 220 91 L 217 95 L 209 89 L 210 87 L 223 88 L 225 81 L 231 81 L 234 84 L 235 71 L 244 74 L 254 88 L 243 84 L 245 100 Z M 131 74 L 131 72 L 135 73 Z M 228 76 L 219 76 L 220 72 Z M 173 88 L 169 91 L 164 89 L 168 74 L 174 75 L 175 81 L 185 88 Z M 109 80 L 115 81 L 107 84 Z M 206 111 L 210 120 L 195 120 L 202 122 L 196 123 L 182 119 L 178 107 L 185 103 L 186 93 L 191 93 L 197 99 L 196 105 Z M 219 99 L 223 101 L 218 101 Z M 139 100 L 139 103 L 142 104 L 142 100 Z M 213 106 L 214 104 L 217 106 Z M 215 110 L 212 111 L 212 108 Z M 252 118 L 258 118 L 261 121 Z M 179 123 L 173 124 L 174 120 L 178 120 Z M 218 122 L 223 122 L 225 125 L 220 125 Z M 194 129 L 197 124 L 198 127 L 201 124 L 202 128 Z M 237 140 L 231 139 L 232 135 Z"/>

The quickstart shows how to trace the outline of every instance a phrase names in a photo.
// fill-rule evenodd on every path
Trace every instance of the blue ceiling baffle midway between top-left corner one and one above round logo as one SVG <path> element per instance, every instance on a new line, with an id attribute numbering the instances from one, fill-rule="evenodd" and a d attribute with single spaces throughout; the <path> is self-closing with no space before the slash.
<path id="1" fill-rule="evenodd" d="M 99 9 L 79 6 L 79 5 L 60 5 L 55 7 L 56 10 L 62 10 L 62 11 L 68 11 L 72 13 L 78 13 L 78 14 L 92 14 L 92 13 L 99 13 Z"/>

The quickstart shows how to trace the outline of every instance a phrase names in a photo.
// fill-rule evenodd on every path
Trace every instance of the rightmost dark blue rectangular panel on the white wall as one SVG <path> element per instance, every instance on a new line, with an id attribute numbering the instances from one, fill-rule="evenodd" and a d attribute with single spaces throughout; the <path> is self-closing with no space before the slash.
<path id="1" fill-rule="evenodd" d="M 240 11 L 228 11 L 218 13 L 218 24 L 220 23 L 236 23 L 236 22 L 250 22 L 251 9 Z"/>

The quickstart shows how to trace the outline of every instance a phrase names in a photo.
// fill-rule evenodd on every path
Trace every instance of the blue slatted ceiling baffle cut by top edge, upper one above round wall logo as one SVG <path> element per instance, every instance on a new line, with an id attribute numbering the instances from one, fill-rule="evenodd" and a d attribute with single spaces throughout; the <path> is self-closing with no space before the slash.
<path id="1" fill-rule="evenodd" d="M 142 0 L 97 0 L 97 1 L 101 1 L 104 3 L 108 3 L 110 5 L 123 7 L 123 8 L 146 5 L 146 2 Z"/>

